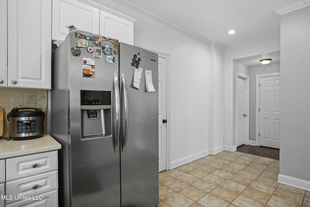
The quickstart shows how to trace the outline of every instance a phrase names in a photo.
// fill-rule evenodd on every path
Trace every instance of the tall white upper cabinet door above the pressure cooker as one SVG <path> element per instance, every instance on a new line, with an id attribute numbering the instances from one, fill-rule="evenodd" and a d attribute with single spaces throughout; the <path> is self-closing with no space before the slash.
<path id="1" fill-rule="evenodd" d="M 8 1 L 8 86 L 51 88 L 51 5 Z"/>

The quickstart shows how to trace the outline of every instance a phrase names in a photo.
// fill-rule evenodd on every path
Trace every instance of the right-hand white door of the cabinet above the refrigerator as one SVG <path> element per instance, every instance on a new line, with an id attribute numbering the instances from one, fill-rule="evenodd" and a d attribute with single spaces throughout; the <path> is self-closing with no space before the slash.
<path id="1" fill-rule="evenodd" d="M 134 44 L 134 23 L 119 16 L 100 11 L 100 34 Z"/>

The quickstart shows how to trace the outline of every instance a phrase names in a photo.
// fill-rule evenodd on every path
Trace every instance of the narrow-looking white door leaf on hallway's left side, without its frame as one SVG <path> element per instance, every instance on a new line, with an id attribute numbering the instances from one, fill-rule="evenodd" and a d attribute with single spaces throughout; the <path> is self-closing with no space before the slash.
<path id="1" fill-rule="evenodd" d="M 246 95 L 245 80 L 236 79 L 236 145 L 240 146 L 245 143 L 245 118 L 246 114 Z"/>

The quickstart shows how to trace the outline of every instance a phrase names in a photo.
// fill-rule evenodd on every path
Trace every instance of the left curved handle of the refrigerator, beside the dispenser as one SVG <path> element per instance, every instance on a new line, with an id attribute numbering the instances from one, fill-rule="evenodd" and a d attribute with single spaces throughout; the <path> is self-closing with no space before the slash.
<path id="1" fill-rule="evenodd" d="M 118 74 L 117 71 L 114 72 L 113 77 L 114 83 L 114 97 L 115 97 L 115 104 L 114 104 L 114 112 L 112 118 L 112 130 L 113 130 L 113 143 L 114 143 L 114 153 L 115 155 L 118 154 L 118 149 L 120 145 L 120 125 L 121 125 L 121 100 L 120 100 L 120 87 L 118 82 Z"/>

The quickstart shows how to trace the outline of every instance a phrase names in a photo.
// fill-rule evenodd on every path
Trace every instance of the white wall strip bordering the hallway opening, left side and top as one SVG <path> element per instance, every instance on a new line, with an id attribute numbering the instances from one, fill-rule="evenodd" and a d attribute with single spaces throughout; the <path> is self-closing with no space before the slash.
<path id="1" fill-rule="evenodd" d="M 239 48 L 225 50 L 225 119 L 224 119 L 224 145 L 226 150 L 236 150 L 235 140 L 235 96 L 233 60 L 253 55 L 265 54 L 280 50 L 280 39 L 270 39 L 263 42 L 247 45 Z"/>

